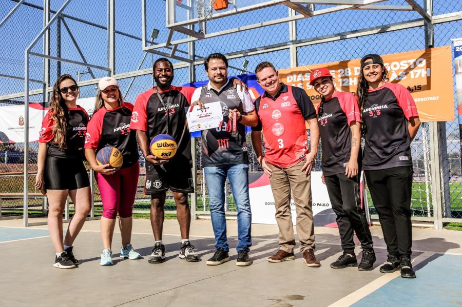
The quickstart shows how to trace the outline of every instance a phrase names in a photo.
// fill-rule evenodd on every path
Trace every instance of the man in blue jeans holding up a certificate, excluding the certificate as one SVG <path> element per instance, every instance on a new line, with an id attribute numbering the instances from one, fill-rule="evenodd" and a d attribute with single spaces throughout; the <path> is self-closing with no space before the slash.
<path id="1" fill-rule="evenodd" d="M 215 234 L 215 254 L 207 265 L 229 261 L 226 238 L 224 186 L 228 178 L 233 191 L 238 215 L 238 258 L 236 265 L 252 263 L 248 256 L 252 245 L 251 207 L 248 196 L 248 156 L 245 127 L 257 125 L 252 99 L 241 87 L 233 87 L 228 80 L 228 61 L 221 53 L 207 56 L 204 61 L 209 82 L 196 89 L 192 105 L 204 107 L 219 102 L 223 114 L 222 124 L 202 131 L 202 165 L 210 204 L 210 216 Z"/>

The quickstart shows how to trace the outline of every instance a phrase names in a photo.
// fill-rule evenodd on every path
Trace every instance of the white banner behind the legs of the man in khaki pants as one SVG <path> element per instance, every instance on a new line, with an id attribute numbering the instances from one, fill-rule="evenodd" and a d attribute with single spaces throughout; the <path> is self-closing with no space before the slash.
<path id="1" fill-rule="evenodd" d="M 322 172 L 311 172 L 311 191 L 313 194 L 313 215 L 315 226 L 336 227 L 335 213 L 332 210 L 327 188 L 321 181 Z M 274 198 L 269 178 L 264 173 L 249 173 L 249 196 L 252 209 L 252 223 L 276 224 Z M 292 223 L 297 214 L 295 202 L 291 197 Z"/>

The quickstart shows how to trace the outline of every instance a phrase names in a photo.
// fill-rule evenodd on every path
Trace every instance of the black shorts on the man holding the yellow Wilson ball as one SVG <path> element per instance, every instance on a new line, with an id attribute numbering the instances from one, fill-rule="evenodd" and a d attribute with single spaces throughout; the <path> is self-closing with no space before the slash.
<path id="1" fill-rule="evenodd" d="M 169 161 L 153 166 L 146 161 L 145 194 L 152 195 L 170 189 L 173 192 L 194 193 L 191 165 Z"/>

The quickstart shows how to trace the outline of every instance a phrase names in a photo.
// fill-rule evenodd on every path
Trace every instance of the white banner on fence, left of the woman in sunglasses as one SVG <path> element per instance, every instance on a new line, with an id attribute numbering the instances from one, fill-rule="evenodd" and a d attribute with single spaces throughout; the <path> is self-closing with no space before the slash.
<path id="1" fill-rule="evenodd" d="M 38 141 L 42 119 L 48 109 L 40 104 L 29 104 L 29 141 Z M 0 107 L 0 143 L 24 142 L 24 105 Z"/>

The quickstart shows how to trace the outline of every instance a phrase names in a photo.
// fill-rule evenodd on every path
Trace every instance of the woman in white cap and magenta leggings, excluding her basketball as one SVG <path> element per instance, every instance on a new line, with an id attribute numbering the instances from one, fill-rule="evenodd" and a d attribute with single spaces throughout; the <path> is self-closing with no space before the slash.
<path id="1" fill-rule="evenodd" d="M 140 165 L 136 131 L 130 130 L 133 105 L 123 102 L 119 84 L 112 77 L 102 78 L 98 88 L 94 113 L 85 138 L 85 156 L 93 171 L 97 172 L 96 179 L 103 202 L 101 238 L 104 250 L 100 264 L 112 265 L 111 244 L 117 214 L 122 236 L 120 257 L 141 258 L 130 243 L 133 202 L 137 194 Z M 109 164 L 98 165 L 95 152 L 106 146 L 115 147 L 122 153 L 123 165 L 117 172 Z"/>

